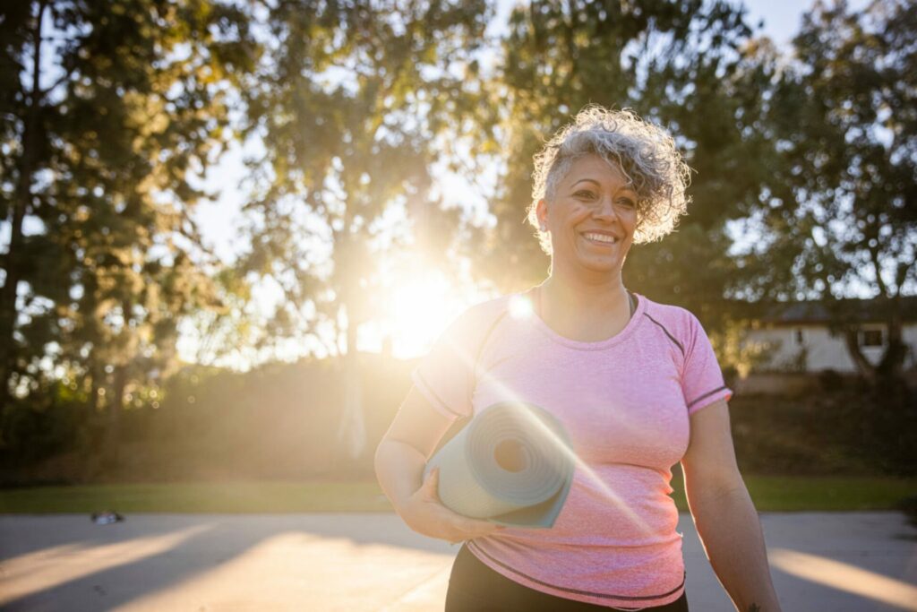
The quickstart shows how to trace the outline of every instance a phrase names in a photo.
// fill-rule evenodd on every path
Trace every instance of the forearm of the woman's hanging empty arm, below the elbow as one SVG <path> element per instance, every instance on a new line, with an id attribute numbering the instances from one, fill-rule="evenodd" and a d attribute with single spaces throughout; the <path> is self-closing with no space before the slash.
<path id="1" fill-rule="evenodd" d="M 689 491 L 691 514 L 713 572 L 740 612 L 780 609 L 755 506 L 745 484 L 720 493 Z"/>

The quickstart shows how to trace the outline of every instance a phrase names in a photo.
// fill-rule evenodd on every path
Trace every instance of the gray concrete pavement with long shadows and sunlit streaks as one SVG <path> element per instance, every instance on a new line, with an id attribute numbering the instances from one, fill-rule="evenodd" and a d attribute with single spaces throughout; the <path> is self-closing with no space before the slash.
<path id="1" fill-rule="evenodd" d="M 764 514 L 783 609 L 917 610 L 898 513 Z M 733 610 L 682 515 L 692 612 Z M 390 514 L 0 516 L 4 610 L 441 610 L 458 551 Z"/>

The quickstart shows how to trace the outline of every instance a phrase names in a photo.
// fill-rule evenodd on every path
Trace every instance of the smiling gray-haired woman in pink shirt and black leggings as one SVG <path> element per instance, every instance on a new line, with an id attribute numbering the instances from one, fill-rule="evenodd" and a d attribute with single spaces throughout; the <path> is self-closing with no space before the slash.
<path id="1" fill-rule="evenodd" d="M 689 170 L 673 139 L 630 112 L 587 107 L 536 156 L 534 176 L 529 220 L 551 255 L 547 280 L 459 317 L 414 372 L 376 453 L 409 527 L 466 542 L 447 611 L 687 610 L 676 462 L 737 609 L 778 610 L 710 340 L 691 313 L 621 279 L 631 244 L 661 238 L 685 213 Z M 558 417 L 578 456 L 551 529 L 458 516 L 439 503 L 436 471 L 422 482 L 457 418 L 513 399 Z"/>

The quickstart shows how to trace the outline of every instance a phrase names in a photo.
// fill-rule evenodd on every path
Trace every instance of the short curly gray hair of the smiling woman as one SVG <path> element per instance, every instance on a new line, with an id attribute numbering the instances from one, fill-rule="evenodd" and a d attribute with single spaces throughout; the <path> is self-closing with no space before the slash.
<path id="1" fill-rule="evenodd" d="M 691 169 L 668 131 L 628 109 L 586 106 L 535 156 L 528 221 L 536 228 L 547 254 L 551 253 L 551 242 L 547 232 L 538 228 L 536 206 L 539 200 L 549 203 L 557 195 L 558 184 L 573 162 L 585 155 L 599 155 L 620 168 L 634 188 L 638 198 L 635 244 L 661 239 L 687 212 L 685 190 L 691 182 Z"/>

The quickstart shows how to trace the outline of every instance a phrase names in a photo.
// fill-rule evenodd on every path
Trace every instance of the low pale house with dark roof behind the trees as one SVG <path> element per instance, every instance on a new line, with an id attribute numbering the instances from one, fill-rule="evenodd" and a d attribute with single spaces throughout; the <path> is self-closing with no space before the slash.
<path id="1" fill-rule="evenodd" d="M 879 300 L 793 302 L 769 306 L 757 314 L 746 342 L 768 347 L 754 373 L 856 373 L 856 363 L 842 333 L 832 330 L 843 312 L 857 328 L 857 344 L 867 362 L 876 365 L 888 347 L 888 303 Z M 901 339 L 905 344 L 904 370 L 917 369 L 917 296 L 900 298 Z"/>

